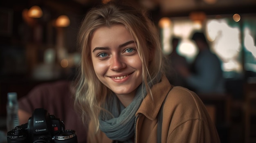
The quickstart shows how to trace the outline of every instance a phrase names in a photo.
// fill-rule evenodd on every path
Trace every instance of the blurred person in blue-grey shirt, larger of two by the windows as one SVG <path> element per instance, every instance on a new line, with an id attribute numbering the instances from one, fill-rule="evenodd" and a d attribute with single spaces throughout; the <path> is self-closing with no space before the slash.
<path id="1" fill-rule="evenodd" d="M 190 68 L 179 66 L 179 72 L 186 79 L 188 88 L 198 94 L 224 93 L 225 80 L 220 59 L 211 52 L 202 32 L 195 32 L 191 38 L 199 50 Z"/>

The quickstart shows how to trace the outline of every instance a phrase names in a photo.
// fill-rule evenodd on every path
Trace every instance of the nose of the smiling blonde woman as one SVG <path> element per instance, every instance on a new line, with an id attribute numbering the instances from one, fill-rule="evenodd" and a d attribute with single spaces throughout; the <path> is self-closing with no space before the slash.
<path id="1" fill-rule="evenodd" d="M 111 57 L 111 65 L 110 65 L 111 70 L 119 71 L 125 67 L 126 67 L 126 64 L 124 60 L 120 57 L 120 55 L 113 55 Z"/>

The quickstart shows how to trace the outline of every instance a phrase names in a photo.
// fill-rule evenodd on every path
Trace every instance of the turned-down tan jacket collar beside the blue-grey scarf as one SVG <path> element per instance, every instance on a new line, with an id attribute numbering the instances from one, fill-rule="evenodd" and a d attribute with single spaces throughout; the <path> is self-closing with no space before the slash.
<path id="1" fill-rule="evenodd" d="M 138 114 L 144 114 L 150 120 L 156 119 L 162 103 L 171 88 L 172 86 L 168 79 L 162 75 L 161 81 L 151 88 L 153 98 L 149 94 L 146 95 L 135 114 L 136 117 Z"/>

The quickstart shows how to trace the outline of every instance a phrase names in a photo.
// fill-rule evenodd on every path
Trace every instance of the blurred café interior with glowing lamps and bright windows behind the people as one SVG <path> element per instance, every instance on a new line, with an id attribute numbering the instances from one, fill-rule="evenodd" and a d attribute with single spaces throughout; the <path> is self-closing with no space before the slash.
<path id="1" fill-rule="evenodd" d="M 256 143 L 256 0 L 127 1 L 148 10 L 166 55 L 173 50 L 171 39 L 180 37 L 177 53 L 191 63 L 198 53 L 191 34 L 204 31 L 225 77 L 224 96 L 202 97 L 213 107 L 209 112 L 221 141 Z M 20 98 L 38 84 L 74 79 L 80 61 L 79 24 L 101 2 L 106 0 L 0 2 L 1 119 L 7 92 Z"/>

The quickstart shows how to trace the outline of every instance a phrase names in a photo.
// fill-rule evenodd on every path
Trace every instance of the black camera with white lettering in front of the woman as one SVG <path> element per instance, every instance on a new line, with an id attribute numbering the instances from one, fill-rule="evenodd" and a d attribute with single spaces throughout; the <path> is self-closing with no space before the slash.
<path id="1" fill-rule="evenodd" d="M 27 123 L 7 132 L 7 143 L 77 143 L 77 136 L 74 130 L 65 130 L 63 121 L 37 108 Z"/>

